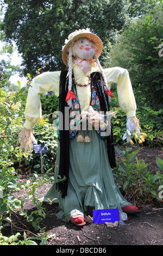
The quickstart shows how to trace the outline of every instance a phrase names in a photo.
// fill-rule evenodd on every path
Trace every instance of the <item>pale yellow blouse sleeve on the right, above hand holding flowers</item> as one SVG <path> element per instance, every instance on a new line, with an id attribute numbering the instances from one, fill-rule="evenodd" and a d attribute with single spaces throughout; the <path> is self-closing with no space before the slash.
<path id="1" fill-rule="evenodd" d="M 136 102 L 131 86 L 128 70 L 118 66 L 104 69 L 108 87 L 111 83 L 117 83 L 117 93 L 120 108 L 126 113 L 127 118 L 136 116 Z"/>

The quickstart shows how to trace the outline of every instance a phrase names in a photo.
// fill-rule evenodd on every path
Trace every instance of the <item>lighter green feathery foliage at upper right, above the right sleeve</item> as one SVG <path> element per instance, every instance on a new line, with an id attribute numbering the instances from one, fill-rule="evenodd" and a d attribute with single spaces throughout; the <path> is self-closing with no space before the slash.
<path id="1" fill-rule="evenodd" d="M 163 8 L 161 5 L 131 23 L 110 51 L 111 63 L 129 71 L 137 101 L 162 108 Z M 141 97 L 140 97 L 141 96 Z"/>

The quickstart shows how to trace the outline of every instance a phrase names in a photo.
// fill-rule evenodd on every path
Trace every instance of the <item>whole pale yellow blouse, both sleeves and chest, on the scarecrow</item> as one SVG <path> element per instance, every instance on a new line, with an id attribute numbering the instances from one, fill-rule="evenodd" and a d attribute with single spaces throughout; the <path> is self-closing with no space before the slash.
<path id="1" fill-rule="evenodd" d="M 98 68 L 91 66 L 91 70 L 86 75 L 73 64 L 73 74 L 78 84 L 85 84 L 89 81 L 90 74 L 92 72 L 99 71 Z M 120 67 L 103 69 L 108 88 L 111 83 L 117 83 L 117 93 L 120 108 L 127 114 L 127 118 L 134 117 L 136 115 L 136 102 L 131 86 L 128 71 Z M 32 130 L 33 126 L 41 119 L 41 102 L 40 93 L 50 92 L 55 90 L 55 94 L 59 96 L 59 80 L 60 72 L 44 72 L 35 77 L 32 81 L 32 87 L 29 88 L 26 109 L 24 117 L 26 122 L 24 127 Z M 81 111 L 87 110 L 91 100 L 91 86 L 79 87 L 77 86 L 77 94 L 80 103 Z"/>

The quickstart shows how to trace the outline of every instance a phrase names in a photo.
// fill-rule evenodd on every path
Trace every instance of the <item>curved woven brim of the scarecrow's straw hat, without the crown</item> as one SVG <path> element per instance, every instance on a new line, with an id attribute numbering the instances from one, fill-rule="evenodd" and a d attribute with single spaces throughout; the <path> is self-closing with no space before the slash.
<path id="1" fill-rule="evenodd" d="M 97 35 L 95 35 L 91 32 L 80 33 L 78 35 L 73 36 L 73 38 L 67 42 L 67 44 L 65 45 L 65 47 L 62 51 L 62 59 L 66 66 L 68 65 L 68 47 L 72 44 L 72 42 L 74 42 L 80 38 L 86 38 L 86 39 L 92 41 L 93 44 L 95 44 L 95 46 L 97 48 L 96 49 L 97 57 L 99 57 L 100 54 L 102 53 L 103 43 L 102 43 L 102 40 Z"/>

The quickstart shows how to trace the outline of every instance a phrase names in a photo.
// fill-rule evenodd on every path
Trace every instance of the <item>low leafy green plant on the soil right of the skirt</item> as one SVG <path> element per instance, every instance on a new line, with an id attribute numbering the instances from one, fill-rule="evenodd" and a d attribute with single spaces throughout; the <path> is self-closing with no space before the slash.
<path id="1" fill-rule="evenodd" d="M 133 152 L 131 150 L 132 148 L 127 148 L 126 151 L 121 151 L 116 148 L 121 156 L 121 162 L 117 162 L 114 169 L 117 187 L 127 200 L 136 200 L 136 202 L 160 200 L 158 190 L 163 183 L 163 174 L 160 172 L 151 174 L 147 169 L 151 163 L 146 164 L 145 161 L 137 158 L 139 149 Z"/>

